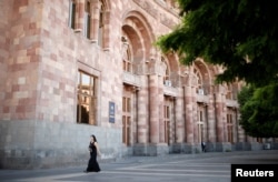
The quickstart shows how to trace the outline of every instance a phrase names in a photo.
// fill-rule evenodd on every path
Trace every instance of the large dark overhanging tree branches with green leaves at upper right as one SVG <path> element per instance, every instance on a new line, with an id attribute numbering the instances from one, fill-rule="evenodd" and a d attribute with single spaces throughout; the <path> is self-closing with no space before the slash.
<path id="1" fill-rule="evenodd" d="M 201 57 L 226 71 L 218 82 L 236 79 L 257 85 L 278 75 L 278 4 L 259 0 L 178 0 L 181 23 L 157 44 L 191 64 Z"/>

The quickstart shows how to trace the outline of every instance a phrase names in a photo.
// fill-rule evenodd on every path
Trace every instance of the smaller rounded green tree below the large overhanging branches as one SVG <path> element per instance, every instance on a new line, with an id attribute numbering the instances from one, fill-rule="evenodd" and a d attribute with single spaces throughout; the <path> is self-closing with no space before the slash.
<path id="1" fill-rule="evenodd" d="M 247 134 L 278 136 L 278 83 L 261 88 L 246 87 L 238 94 L 240 124 Z"/>

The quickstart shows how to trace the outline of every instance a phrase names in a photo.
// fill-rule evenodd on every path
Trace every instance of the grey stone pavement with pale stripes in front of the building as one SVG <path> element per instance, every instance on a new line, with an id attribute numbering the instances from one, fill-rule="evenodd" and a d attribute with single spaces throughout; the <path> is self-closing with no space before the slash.
<path id="1" fill-rule="evenodd" d="M 230 182 L 231 164 L 278 164 L 277 150 L 128 156 L 100 162 L 101 172 L 83 166 L 0 170 L 1 182 Z"/>

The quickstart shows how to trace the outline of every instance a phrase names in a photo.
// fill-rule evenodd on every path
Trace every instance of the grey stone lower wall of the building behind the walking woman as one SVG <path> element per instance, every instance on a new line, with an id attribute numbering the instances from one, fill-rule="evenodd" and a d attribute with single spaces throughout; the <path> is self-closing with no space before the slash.
<path id="1" fill-rule="evenodd" d="M 91 130 L 90 125 L 76 123 L 0 121 L 1 136 L 9 139 L 0 142 L 0 169 L 31 170 L 86 164 L 90 158 L 88 143 L 92 133 L 100 142 L 101 160 L 112 160 L 121 155 L 120 132 L 121 129 L 97 127 Z M 75 140 L 69 138 L 72 133 Z M 111 140 L 107 140 L 110 135 Z M 129 149 L 125 152 L 128 153 Z"/>

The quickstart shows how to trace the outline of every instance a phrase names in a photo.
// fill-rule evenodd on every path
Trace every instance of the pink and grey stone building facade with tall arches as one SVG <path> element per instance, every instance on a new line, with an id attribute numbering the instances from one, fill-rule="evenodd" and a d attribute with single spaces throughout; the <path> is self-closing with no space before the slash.
<path id="1" fill-rule="evenodd" d="M 242 83 L 153 43 L 179 23 L 173 0 L 1 0 L 0 168 L 261 149 L 238 124 Z"/>

